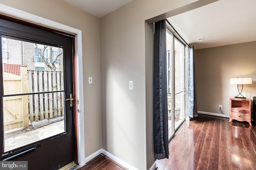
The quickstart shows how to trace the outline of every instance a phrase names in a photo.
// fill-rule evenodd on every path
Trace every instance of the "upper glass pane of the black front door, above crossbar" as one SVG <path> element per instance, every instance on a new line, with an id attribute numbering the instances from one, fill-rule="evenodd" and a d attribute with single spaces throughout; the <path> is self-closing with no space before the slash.
<path id="1" fill-rule="evenodd" d="M 60 89 L 61 88 L 63 89 L 62 82 L 58 84 L 56 84 L 56 82 L 53 82 L 53 81 L 63 79 L 63 77 L 60 77 L 60 76 L 63 76 L 62 48 L 2 37 L 2 41 L 3 40 L 5 42 L 6 50 L 2 51 L 2 54 L 3 53 L 5 55 L 8 54 L 8 58 L 2 58 L 3 77 L 8 78 L 10 81 L 12 80 L 10 83 L 16 84 L 16 86 L 18 86 L 18 88 L 13 89 L 12 86 L 9 86 L 9 84 L 4 84 L 4 95 L 24 94 L 25 92 L 30 92 L 30 93 L 51 92 L 51 91 L 57 90 L 58 88 L 57 85 L 60 86 Z M 28 82 L 30 83 L 29 84 L 30 88 L 24 89 L 26 91 L 21 90 L 21 86 L 19 83 L 20 80 L 18 80 L 21 76 L 22 66 L 26 66 L 27 70 L 29 70 Z M 36 70 L 45 69 L 48 72 L 32 71 L 32 70 L 35 70 L 35 68 L 39 68 Z M 60 70 L 62 72 L 56 72 L 57 70 Z M 56 79 L 49 78 L 51 76 L 56 76 Z M 46 79 L 41 79 L 39 77 L 47 77 L 49 79 L 46 80 Z M 32 82 L 32 79 L 33 80 L 38 79 L 38 84 L 36 84 L 36 81 Z M 43 84 L 43 82 L 41 81 L 47 81 L 48 83 L 52 83 L 52 84 L 47 87 L 44 87 L 44 86 L 42 87 L 40 86 Z"/>

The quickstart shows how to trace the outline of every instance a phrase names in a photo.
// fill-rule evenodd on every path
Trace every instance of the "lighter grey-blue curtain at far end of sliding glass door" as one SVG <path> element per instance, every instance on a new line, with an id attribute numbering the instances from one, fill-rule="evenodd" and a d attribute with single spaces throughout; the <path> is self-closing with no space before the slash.
<path id="1" fill-rule="evenodd" d="M 189 117 L 198 116 L 196 105 L 196 76 L 194 61 L 194 46 L 188 49 L 188 111 Z"/>

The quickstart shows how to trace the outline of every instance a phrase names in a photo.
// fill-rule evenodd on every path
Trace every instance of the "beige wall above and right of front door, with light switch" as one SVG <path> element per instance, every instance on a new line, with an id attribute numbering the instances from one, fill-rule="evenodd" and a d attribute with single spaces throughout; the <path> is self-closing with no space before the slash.
<path id="1" fill-rule="evenodd" d="M 60 0 L 0 0 L 1 4 L 82 30 L 85 156 L 102 148 L 100 20 Z M 88 85 L 88 76 L 93 84 Z"/>

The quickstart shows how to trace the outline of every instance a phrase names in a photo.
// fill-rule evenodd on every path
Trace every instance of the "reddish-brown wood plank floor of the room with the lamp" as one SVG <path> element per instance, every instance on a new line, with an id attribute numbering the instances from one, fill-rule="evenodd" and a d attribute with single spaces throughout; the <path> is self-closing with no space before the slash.
<path id="1" fill-rule="evenodd" d="M 256 170 L 256 126 L 200 115 L 185 121 L 157 170 Z"/>

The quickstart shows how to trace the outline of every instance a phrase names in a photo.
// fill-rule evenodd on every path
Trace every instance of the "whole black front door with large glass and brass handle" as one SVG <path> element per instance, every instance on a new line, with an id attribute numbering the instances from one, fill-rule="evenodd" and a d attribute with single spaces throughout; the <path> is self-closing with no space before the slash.
<path id="1" fill-rule="evenodd" d="M 75 161 L 72 37 L 0 19 L 0 160 Z"/>

